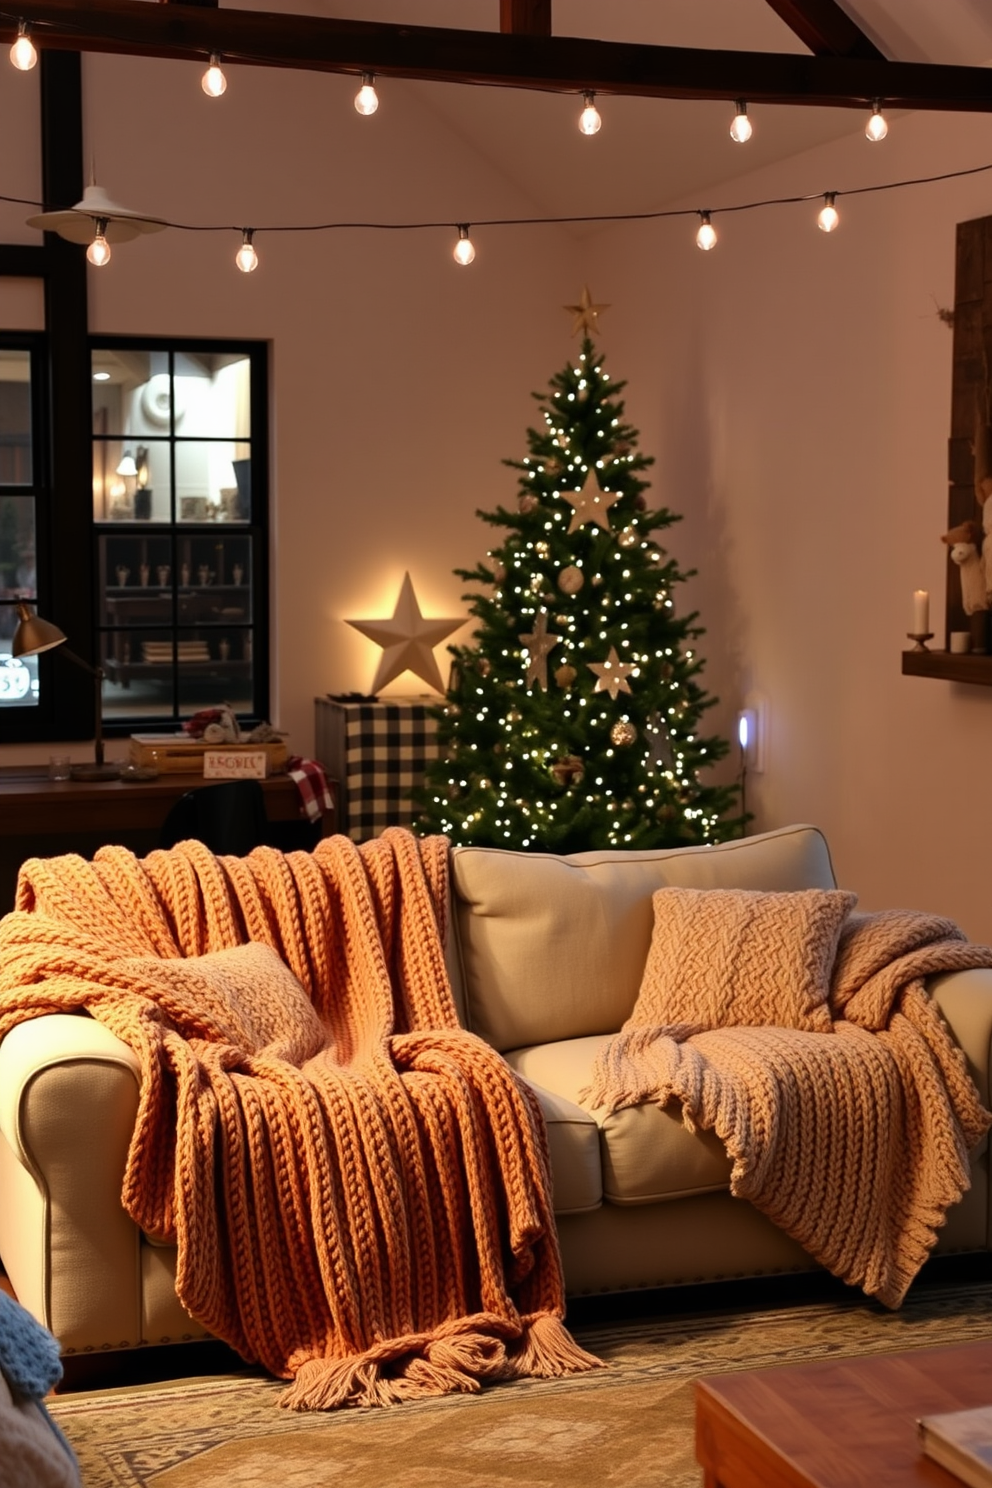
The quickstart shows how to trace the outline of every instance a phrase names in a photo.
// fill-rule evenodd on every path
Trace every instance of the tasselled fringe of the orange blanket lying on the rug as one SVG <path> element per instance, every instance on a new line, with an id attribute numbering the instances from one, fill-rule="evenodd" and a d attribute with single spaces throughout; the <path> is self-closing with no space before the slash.
<path id="1" fill-rule="evenodd" d="M 477 1394 L 483 1381 L 546 1379 L 604 1367 L 547 1312 L 526 1320 L 510 1350 L 503 1339 L 480 1332 L 410 1344 L 396 1339 L 348 1359 L 309 1359 L 280 1405 L 290 1411 L 367 1409 L 424 1396 Z"/>

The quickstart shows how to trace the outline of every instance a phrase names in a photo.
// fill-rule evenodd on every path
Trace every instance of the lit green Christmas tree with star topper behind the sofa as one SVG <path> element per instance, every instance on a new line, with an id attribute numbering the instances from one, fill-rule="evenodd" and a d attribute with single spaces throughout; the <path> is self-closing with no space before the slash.
<path id="1" fill-rule="evenodd" d="M 680 570 L 654 534 L 680 518 L 645 500 L 620 393 L 576 311 L 577 360 L 535 393 L 516 510 L 477 515 L 506 537 L 466 595 L 479 625 L 455 658 L 437 710 L 442 757 L 418 793 L 418 830 L 477 847 L 576 853 L 717 842 L 736 786 L 699 775 L 727 753 L 699 725 L 717 701 L 700 687 L 703 634 L 680 616 Z"/>

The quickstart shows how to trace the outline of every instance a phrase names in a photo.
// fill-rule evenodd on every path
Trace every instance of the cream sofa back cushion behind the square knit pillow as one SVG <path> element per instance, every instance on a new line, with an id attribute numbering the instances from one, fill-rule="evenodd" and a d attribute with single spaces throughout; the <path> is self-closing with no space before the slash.
<path id="1" fill-rule="evenodd" d="M 500 1051 L 616 1033 L 651 945 L 656 888 L 834 888 L 822 833 L 781 827 L 718 847 L 556 857 L 452 850 L 455 997 Z"/>

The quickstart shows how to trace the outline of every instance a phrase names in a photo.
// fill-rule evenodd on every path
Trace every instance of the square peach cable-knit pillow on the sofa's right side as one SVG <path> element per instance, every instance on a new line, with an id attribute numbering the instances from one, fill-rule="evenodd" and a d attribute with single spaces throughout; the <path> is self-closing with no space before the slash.
<path id="1" fill-rule="evenodd" d="M 830 1033 L 830 972 L 857 894 L 659 888 L 628 1027 L 778 1027 Z"/>

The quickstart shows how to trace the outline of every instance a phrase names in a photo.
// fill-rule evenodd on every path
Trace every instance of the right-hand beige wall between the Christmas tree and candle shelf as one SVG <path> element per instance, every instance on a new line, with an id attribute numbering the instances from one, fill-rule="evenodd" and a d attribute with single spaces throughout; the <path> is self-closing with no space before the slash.
<path id="1" fill-rule="evenodd" d="M 921 115 L 693 205 L 988 161 L 976 121 Z M 754 827 L 814 821 L 863 908 L 930 908 L 992 939 L 992 689 L 900 674 L 916 586 L 943 644 L 952 338 L 935 310 L 953 304 L 955 223 L 992 213 L 992 173 L 840 198 L 830 237 L 817 207 L 717 217 L 709 254 L 689 222 L 604 235 L 608 350 L 657 491 L 686 513 L 672 549 L 699 568 L 724 729 L 748 692 L 767 701 Z"/>

